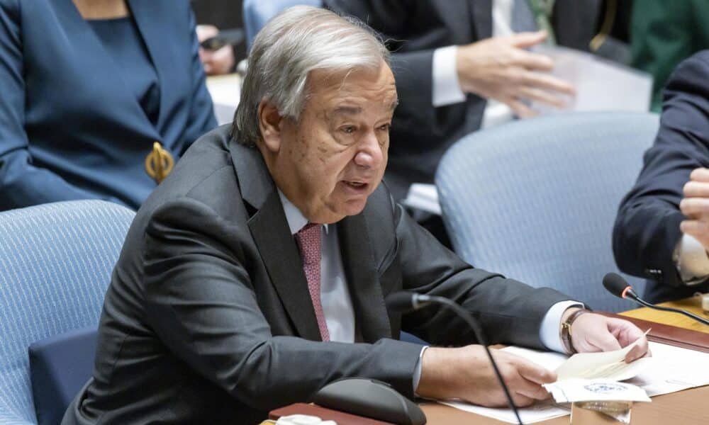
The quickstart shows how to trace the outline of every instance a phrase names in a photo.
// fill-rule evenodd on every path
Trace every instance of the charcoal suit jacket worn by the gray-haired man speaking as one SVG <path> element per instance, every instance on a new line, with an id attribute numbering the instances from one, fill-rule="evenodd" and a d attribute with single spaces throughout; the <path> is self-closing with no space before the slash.
<path id="1" fill-rule="evenodd" d="M 63 424 L 249 424 L 337 378 L 412 396 L 420 346 L 474 336 L 435 307 L 401 317 L 406 288 L 450 297 L 493 342 L 541 347 L 545 312 L 567 299 L 475 269 L 393 203 L 383 185 L 337 223 L 357 344 L 320 341 L 298 249 L 260 152 L 218 128 L 195 143 L 138 211 L 113 271 L 94 378 Z M 392 339 L 393 338 L 393 339 Z"/>

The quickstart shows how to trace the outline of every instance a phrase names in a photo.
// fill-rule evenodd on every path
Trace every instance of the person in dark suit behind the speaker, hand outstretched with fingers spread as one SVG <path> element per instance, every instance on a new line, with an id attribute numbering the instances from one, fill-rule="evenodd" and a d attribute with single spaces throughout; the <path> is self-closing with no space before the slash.
<path id="1" fill-rule="evenodd" d="M 325 0 L 387 40 L 401 106 L 391 126 L 386 182 L 394 197 L 411 183 L 432 183 L 442 155 L 457 140 L 513 115 L 534 115 L 527 101 L 563 106 L 573 94 L 545 72 L 553 62 L 525 50 L 551 34 L 520 33 L 547 23 L 560 45 L 588 50 L 598 0 L 559 0 L 548 16 L 527 0 Z M 514 34 L 520 33 L 520 34 Z M 494 37 L 493 37 L 494 35 Z"/>

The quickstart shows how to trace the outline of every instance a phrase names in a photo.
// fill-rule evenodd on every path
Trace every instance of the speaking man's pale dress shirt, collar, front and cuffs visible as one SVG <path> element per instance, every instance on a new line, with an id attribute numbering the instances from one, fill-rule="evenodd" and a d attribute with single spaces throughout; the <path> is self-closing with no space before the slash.
<path id="1" fill-rule="evenodd" d="M 296 205 L 278 191 L 281 205 L 288 221 L 291 234 L 296 234 L 308 224 L 308 219 L 298 210 Z M 320 302 L 323 305 L 325 322 L 328 324 L 330 341 L 354 342 L 354 307 L 352 298 L 347 289 L 345 269 L 342 267 L 340 245 L 337 242 L 337 226 L 323 225 L 323 243 L 320 245 L 322 256 L 320 259 Z M 575 301 L 562 301 L 552 305 L 540 327 L 540 338 L 549 350 L 564 352 L 564 345 L 559 335 L 559 327 L 564 311 L 575 305 Z M 419 359 L 428 347 L 421 350 Z M 413 376 L 413 389 L 418 387 L 421 376 L 421 362 L 419 360 Z"/>

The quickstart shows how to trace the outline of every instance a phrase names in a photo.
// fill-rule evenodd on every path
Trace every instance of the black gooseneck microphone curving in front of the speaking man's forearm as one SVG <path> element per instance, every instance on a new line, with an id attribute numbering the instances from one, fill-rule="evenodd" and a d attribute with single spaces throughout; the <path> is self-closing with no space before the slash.
<path id="1" fill-rule="evenodd" d="M 441 304 L 445 307 L 450 308 L 450 310 L 453 310 L 455 314 L 457 314 L 468 324 L 469 327 L 471 327 L 471 329 L 473 329 L 473 332 L 475 333 L 475 337 L 478 339 L 478 342 L 481 346 L 483 346 L 483 348 L 485 348 L 485 353 L 487 354 L 492 368 L 495 371 L 497 380 L 498 382 L 500 382 L 500 386 L 502 387 L 503 392 L 505 392 L 505 397 L 507 397 L 508 406 L 510 407 L 510 409 L 512 409 L 513 412 L 515 412 L 515 416 L 517 416 L 518 423 L 520 425 L 524 425 L 522 419 L 520 418 L 520 412 L 518 411 L 517 406 L 515 405 L 515 402 L 512 399 L 512 396 L 510 395 L 510 389 L 507 387 L 507 384 L 505 383 L 505 380 L 502 378 L 502 374 L 500 373 L 500 369 L 497 367 L 497 363 L 495 363 L 495 359 L 490 353 L 490 348 L 488 348 L 487 346 L 488 344 L 483 334 L 483 330 L 481 329 L 478 322 L 476 322 L 476 320 L 473 318 L 472 314 L 470 314 L 470 312 L 465 310 L 463 307 L 460 307 L 448 298 L 437 297 L 434 295 L 420 295 L 407 291 L 401 291 L 393 293 L 391 295 L 387 295 L 384 302 L 386 302 L 386 307 L 393 312 L 407 312 L 410 310 L 418 310 L 419 308 L 431 303 Z"/>

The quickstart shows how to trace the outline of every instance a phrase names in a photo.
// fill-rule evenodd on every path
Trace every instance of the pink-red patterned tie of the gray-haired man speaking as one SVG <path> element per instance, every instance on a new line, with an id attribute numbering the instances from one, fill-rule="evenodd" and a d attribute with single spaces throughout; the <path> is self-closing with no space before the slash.
<path id="1" fill-rule="evenodd" d="M 308 223 L 296 233 L 296 242 L 301 248 L 303 271 L 306 273 L 306 279 L 308 280 L 308 292 L 310 292 L 311 300 L 313 300 L 313 309 L 315 310 L 315 317 L 318 319 L 320 336 L 323 341 L 330 341 L 328 324 L 325 322 L 325 313 L 323 313 L 323 305 L 320 302 L 320 237 L 322 228 L 322 225 Z"/>

